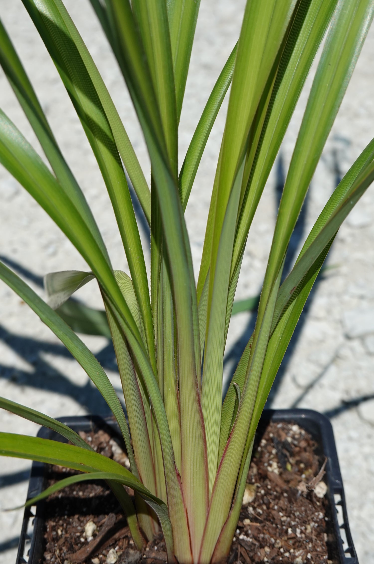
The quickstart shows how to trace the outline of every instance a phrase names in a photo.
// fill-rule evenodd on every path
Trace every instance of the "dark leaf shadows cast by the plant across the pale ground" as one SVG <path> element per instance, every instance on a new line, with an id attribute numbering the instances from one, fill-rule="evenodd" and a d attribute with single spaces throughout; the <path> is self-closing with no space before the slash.
<path id="1" fill-rule="evenodd" d="M 340 171 L 338 151 L 336 148 L 332 150 L 332 173 L 334 175 L 335 186 L 340 182 L 342 174 Z M 284 174 L 284 164 L 283 157 L 280 154 L 278 161 L 276 163 L 276 182 L 275 182 L 275 201 L 278 209 L 281 193 L 284 186 L 285 174 Z M 138 219 L 138 225 L 140 231 L 142 231 L 144 237 L 149 239 L 150 232 L 149 227 L 144 217 L 143 211 L 139 205 L 137 197 L 135 196 L 134 190 L 131 186 L 129 179 L 131 200 L 133 201 L 135 215 Z M 291 270 L 294 260 L 296 259 L 297 250 L 300 248 L 302 240 L 305 238 L 305 225 L 306 225 L 306 215 L 308 209 L 308 196 L 303 204 L 300 216 L 298 217 L 296 227 L 294 229 L 291 241 L 289 243 L 287 256 L 285 259 L 284 275 L 287 276 L 288 272 Z M 10 258 L 0 255 L 1 261 L 3 261 L 8 267 L 21 275 L 24 279 L 30 281 L 39 288 L 43 288 L 43 277 L 38 276 L 20 265 Z M 289 343 L 287 352 L 284 359 L 280 365 L 279 371 L 276 375 L 274 384 L 269 394 L 269 398 L 266 403 L 266 407 L 271 407 L 276 394 L 279 390 L 281 381 L 283 380 L 284 374 L 287 371 L 288 363 L 290 362 L 293 351 L 297 345 L 297 342 L 301 336 L 303 325 L 307 320 L 309 309 L 311 303 L 316 293 L 316 289 L 320 281 L 323 279 L 323 274 L 320 274 L 314 284 L 313 289 L 306 301 L 305 307 L 301 314 L 300 320 L 296 326 L 293 333 L 291 342 Z M 71 298 L 74 300 L 74 298 Z M 224 367 L 227 365 L 231 366 L 231 371 L 228 374 L 228 378 L 224 384 L 224 394 L 228 386 L 230 385 L 230 380 L 234 374 L 237 363 L 239 362 L 240 356 L 244 351 L 245 345 L 249 340 L 250 335 L 254 330 L 254 324 L 256 323 L 257 311 L 253 311 L 250 319 L 248 321 L 247 327 L 245 327 L 241 336 L 236 340 L 236 342 L 231 346 L 231 349 L 226 353 L 225 359 L 223 360 Z M 73 356 L 70 352 L 63 346 L 59 344 L 50 343 L 48 341 L 37 340 L 32 337 L 22 337 L 15 333 L 7 331 L 5 327 L 0 325 L 0 342 L 6 343 L 7 347 L 15 352 L 17 356 L 25 360 L 25 362 L 32 365 L 33 370 L 28 372 L 26 370 L 21 370 L 14 368 L 5 364 L 0 363 L 0 378 L 3 380 L 8 380 L 19 384 L 20 386 L 28 386 L 33 389 L 50 391 L 55 394 L 60 394 L 68 396 L 74 399 L 81 407 L 85 408 L 87 412 L 90 413 L 100 413 L 100 415 L 110 415 L 109 408 L 105 403 L 102 395 L 96 389 L 96 387 L 91 383 L 90 380 L 86 382 L 85 385 L 80 386 L 74 384 L 69 378 L 67 378 L 63 373 L 61 373 L 55 367 L 52 367 L 45 359 L 43 359 L 43 354 L 51 354 L 54 356 L 62 356 L 63 358 L 72 359 Z M 115 351 L 113 349 L 112 342 L 108 341 L 107 345 L 103 347 L 102 350 L 95 355 L 99 360 L 100 364 L 104 369 L 117 372 L 117 363 Z M 302 391 L 300 396 L 294 401 L 293 405 L 290 407 L 297 407 L 301 402 L 303 397 L 309 392 L 311 387 L 313 387 L 324 375 L 325 369 L 315 378 L 305 390 Z M 120 391 L 120 390 L 116 390 Z M 340 413 L 353 409 L 359 406 L 360 403 L 366 402 L 368 400 L 374 399 L 374 394 L 362 395 L 358 398 L 354 398 L 349 401 L 341 402 L 339 406 L 330 409 L 325 413 L 330 418 L 333 418 Z M 61 413 L 63 416 L 64 413 Z M 0 490 L 4 487 L 14 486 L 18 483 L 24 482 L 29 478 L 29 470 L 22 470 L 17 473 L 3 474 L 0 476 Z M 13 537 L 0 543 L 0 554 L 17 547 L 19 537 Z"/>

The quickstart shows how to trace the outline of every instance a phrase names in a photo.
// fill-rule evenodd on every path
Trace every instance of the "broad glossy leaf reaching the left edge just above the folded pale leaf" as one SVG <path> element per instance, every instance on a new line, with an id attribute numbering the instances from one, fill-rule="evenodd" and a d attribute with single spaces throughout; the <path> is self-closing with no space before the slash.
<path id="1" fill-rule="evenodd" d="M 15 126 L 1 112 L 0 161 L 30 192 L 34 199 L 41 204 L 42 208 L 47 211 L 55 223 L 69 237 L 98 278 L 100 286 L 105 291 L 105 294 L 110 299 L 120 318 L 121 327 L 134 352 L 140 371 L 145 375 L 144 379 L 147 379 L 148 394 L 152 400 L 153 407 L 157 409 L 159 415 L 158 425 L 162 421 L 162 418 L 164 418 L 165 424 L 162 424 L 161 431 L 164 433 L 164 439 L 166 441 L 170 440 L 162 399 L 157 396 L 159 390 L 156 391 L 153 387 L 155 374 L 149 364 L 142 336 L 131 315 L 129 306 L 118 287 L 111 266 L 105 260 L 100 248 L 95 243 L 93 236 L 86 224 L 82 221 L 76 208 L 74 208 L 71 200 L 68 199 L 64 192 L 59 190 L 59 184 L 46 168 L 45 164 L 43 164 L 41 158 L 38 157 L 27 140 L 21 136 Z M 155 393 L 156 396 L 154 395 Z M 174 469 L 171 440 L 170 448 L 167 452 L 170 456 L 170 468 Z M 178 485 L 176 487 L 179 488 Z"/>

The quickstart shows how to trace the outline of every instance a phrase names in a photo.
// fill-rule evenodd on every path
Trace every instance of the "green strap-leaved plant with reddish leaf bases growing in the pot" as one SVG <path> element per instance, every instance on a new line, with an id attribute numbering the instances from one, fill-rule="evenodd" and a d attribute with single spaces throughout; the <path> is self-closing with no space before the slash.
<path id="1" fill-rule="evenodd" d="M 62 0 L 22 1 L 98 162 L 131 277 L 113 270 L 93 214 L 2 24 L 1 65 L 50 168 L 1 111 L 0 161 L 90 270 L 48 275 L 48 305 L 2 263 L 0 277 L 98 387 L 122 431 L 130 471 L 94 452 L 67 426 L 4 398 L 2 408 L 58 431 L 72 444 L 1 433 L 0 453 L 83 472 L 42 496 L 69 483 L 106 480 L 138 548 L 161 527 L 170 562 L 225 561 L 270 387 L 338 228 L 374 179 L 372 140 L 333 192 L 280 284 L 287 246 L 371 24 L 374 0 L 247 0 L 239 41 L 209 95 L 182 166 L 178 125 L 199 1 L 91 0 L 142 127 L 150 187 L 126 124 Z M 249 228 L 325 34 L 281 196 L 256 327 L 222 404 L 223 352 Z M 195 284 L 184 210 L 230 85 Z M 125 171 L 151 230 L 150 284 Z M 103 368 L 59 315 L 69 296 L 93 278 L 103 296 L 128 424 Z M 133 488 L 134 497 L 124 485 Z"/>

